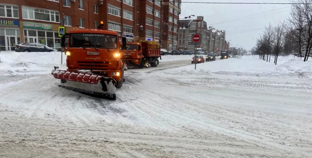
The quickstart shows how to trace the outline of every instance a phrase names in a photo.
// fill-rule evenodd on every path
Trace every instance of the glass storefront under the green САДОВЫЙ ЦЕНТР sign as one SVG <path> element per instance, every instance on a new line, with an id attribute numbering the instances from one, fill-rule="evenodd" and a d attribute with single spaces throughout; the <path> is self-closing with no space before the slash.
<path id="1" fill-rule="evenodd" d="M 24 42 L 41 43 L 48 47 L 61 50 L 61 38 L 58 31 L 53 31 L 51 24 L 23 21 Z"/>

